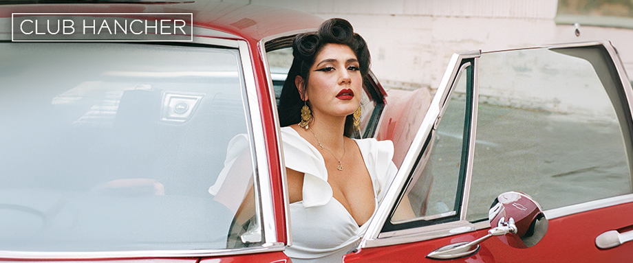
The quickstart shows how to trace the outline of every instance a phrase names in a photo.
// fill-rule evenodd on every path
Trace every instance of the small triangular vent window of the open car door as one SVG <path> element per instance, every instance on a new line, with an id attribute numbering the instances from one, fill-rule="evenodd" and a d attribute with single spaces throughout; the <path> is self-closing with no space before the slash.
<path id="1" fill-rule="evenodd" d="M 470 61 L 462 64 L 449 98 L 444 103 L 443 113 L 436 130 L 427 141 L 424 154 L 409 178 L 406 196 L 398 203 L 396 211 L 403 205 L 411 205 L 415 217 L 391 217 L 395 229 L 398 224 L 415 222 L 415 225 L 433 225 L 459 219 L 464 181 L 466 149 L 469 135 L 471 100 L 467 85 L 473 78 Z"/>

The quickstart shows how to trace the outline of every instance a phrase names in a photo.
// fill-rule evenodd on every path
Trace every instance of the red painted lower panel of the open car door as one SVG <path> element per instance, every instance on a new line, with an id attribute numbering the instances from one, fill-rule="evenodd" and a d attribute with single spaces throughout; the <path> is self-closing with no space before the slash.
<path id="1" fill-rule="evenodd" d="M 633 242 L 613 249 L 598 249 L 595 238 L 607 229 L 630 229 L 633 222 L 631 211 L 633 203 L 624 203 L 554 218 L 549 220 L 546 236 L 534 247 L 514 249 L 498 238 L 491 238 L 481 244 L 478 253 L 447 262 L 621 262 L 624 258 L 630 258 Z M 344 261 L 438 262 L 426 258 L 426 255 L 446 244 L 472 241 L 486 233 L 487 229 L 481 229 L 434 240 L 360 249 L 356 253 L 345 255 Z"/>

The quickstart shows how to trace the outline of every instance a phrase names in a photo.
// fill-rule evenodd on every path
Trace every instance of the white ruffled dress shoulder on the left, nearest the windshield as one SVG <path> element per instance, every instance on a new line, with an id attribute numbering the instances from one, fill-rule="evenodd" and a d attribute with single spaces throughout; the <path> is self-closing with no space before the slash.
<path id="1" fill-rule="evenodd" d="M 305 174 L 303 207 L 326 205 L 332 198 L 332 187 L 328 183 L 328 170 L 319 150 L 290 127 L 281 128 L 281 141 L 286 167 Z"/>

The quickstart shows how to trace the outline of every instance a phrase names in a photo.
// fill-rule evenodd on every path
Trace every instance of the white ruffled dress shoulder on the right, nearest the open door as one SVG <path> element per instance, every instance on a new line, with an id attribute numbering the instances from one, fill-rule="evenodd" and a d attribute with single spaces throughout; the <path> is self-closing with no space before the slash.
<path id="1" fill-rule="evenodd" d="M 378 141 L 374 138 L 354 139 L 354 141 L 363 154 L 369 176 L 372 176 L 374 195 L 380 202 L 398 172 L 394 161 L 391 161 L 394 158 L 394 143 Z"/>

